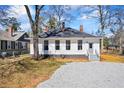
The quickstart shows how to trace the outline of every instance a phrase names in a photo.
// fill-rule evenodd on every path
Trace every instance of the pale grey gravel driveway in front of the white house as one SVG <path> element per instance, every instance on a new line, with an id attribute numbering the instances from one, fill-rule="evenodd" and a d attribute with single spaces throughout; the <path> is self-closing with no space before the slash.
<path id="1" fill-rule="evenodd" d="M 37 86 L 45 88 L 124 87 L 124 64 L 109 62 L 67 63 Z"/>

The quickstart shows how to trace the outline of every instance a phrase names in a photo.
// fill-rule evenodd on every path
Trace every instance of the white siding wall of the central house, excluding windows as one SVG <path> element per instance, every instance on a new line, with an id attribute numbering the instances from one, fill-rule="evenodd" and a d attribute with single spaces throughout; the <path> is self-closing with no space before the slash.
<path id="1" fill-rule="evenodd" d="M 55 50 L 55 40 L 60 40 L 60 50 Z M 66 40 L 71 40 L 71 50 L 66 50 Z M 78 50 L 78 40 L 83 40 L 82 50 Z M 44 40 L 39 39 L 39 54 L 49 54 L 49 55 L 88 55 L 89 43 L 93 43 L 93 53 L 95 51 L 100 54 L 99 39 L 50 39 L 49 40 L 49 50 L 44 51 L 43 46 Z M 30 54 L 33 54 L 33 44 L 30 44 Z"/>

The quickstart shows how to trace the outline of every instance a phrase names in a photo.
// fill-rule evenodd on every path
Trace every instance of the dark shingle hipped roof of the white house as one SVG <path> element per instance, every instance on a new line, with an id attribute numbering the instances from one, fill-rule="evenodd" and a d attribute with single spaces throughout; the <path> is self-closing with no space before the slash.
<path id="1" fill-rule="evenodd" d="M 88 34 L 86 32 L 80 32 L 73 28 L 65 28 L 64 31 L 56 29 L 53 31 L 40 33 L 39 37 L 49 38 L 49 37 L 96 37 L 96 36 Z"/>

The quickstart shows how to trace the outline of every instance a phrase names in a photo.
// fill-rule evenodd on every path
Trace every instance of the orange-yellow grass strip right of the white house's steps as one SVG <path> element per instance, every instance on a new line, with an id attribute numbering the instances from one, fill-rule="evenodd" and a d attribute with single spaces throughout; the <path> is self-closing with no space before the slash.
<path id="1" fill-rule="evenodd" d="M 117 54 L 102 54 L 101 55 L 101 61 L 124 63 L 124 56 L 117 55 Z"/>

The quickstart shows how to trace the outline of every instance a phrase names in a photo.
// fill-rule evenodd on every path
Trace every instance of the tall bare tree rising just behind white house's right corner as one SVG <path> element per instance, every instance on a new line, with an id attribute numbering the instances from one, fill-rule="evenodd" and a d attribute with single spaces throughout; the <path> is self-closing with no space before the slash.
<path id="1" fill-rule="evenodd" d="M 108 27 L 108 18 L 109 18 L 109 6 L 101 6 L 101 5 L 97 5 L 97 6 L 83 6 L 83 8 L 87 8 L 86 11 L 85 10 L 81 10 L 83 13 L 83 15 L 85 14 L 85 16 L 88 16 L 88 18 L 91 19 L 95 19 L 97 21 L 97 23 L 99 24 L 98 30 L 97 30 L 97 35 L 98 36 L 102 36 L 101 39 L 101 52 L 103 50 L 103 44 L 104 42 L 104 36 L 105 36 L 105 29 L 107 29 Z"/>

